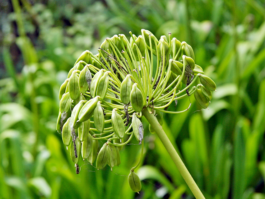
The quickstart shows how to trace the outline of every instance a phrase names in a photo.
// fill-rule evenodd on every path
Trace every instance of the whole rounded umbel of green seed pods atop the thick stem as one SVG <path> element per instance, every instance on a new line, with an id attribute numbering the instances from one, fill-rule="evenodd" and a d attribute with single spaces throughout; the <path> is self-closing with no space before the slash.
<path id="1" fill-rule="evenodd" d="M 138 37 L 130 33 L 129 39 L 123 34 L 106 38 L 96 55 L 84 51 L 60 88 L 57 130 L 77 173 L 80 159 L 96 161 L 98 169 L 118 166 L 119 151 L 133 137 L 142 144 L 143 153 L 143 109 L 161 123 L 162 112 L 180 113 L 190 107 L 168 111 L 173 101 L 177 105 L 177 100 L 194 94 L 205 109 L 212 99 L 216 85 L 195 64 L 190 45 L 171 38 L 170 33 L 158 40 L 148 30 L 141 32 Z M 149 129 L 153 131 L 152 126 Z M 99 151 L 98 140 L 106 141 Z M 136 167 L 128 182 L 139 192 Z"/>

